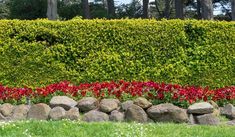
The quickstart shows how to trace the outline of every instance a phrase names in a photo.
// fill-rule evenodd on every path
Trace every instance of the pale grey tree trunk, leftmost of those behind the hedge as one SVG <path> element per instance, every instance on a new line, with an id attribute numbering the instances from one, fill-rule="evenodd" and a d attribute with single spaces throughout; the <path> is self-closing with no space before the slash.
<path id="1" fill-rule="evenodd" d="M 47 0 L 47 18 L 56 20 L 57 18 L 57 0 Z"/>

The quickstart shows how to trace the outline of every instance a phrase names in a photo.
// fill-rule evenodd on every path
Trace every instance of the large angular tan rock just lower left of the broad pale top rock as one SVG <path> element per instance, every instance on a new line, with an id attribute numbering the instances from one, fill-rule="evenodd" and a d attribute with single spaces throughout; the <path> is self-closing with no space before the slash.
<path id="1" fill-rule="evenodd" d="M 47 120 L 51 108 L 44 103 L 35 104 L 30 107 L 28 112 L 28 119 Z"/>

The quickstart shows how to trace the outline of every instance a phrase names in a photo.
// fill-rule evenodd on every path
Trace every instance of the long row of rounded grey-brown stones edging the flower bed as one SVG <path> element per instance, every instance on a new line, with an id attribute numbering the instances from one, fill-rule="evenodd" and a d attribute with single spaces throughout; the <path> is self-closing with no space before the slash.
<path id="1" fill-rule="evenodd" d="M 81 118 L 80 112 L 84 113 Z M 219 108 L 214 102 L 201 102 L 182 109 L 170 103 L 152 105 L 145 98 L 121 103 L 117 99 L 102 99 L 87 97 L 76 102 L 66 96 L 55 96 L 50 104 L 35 104 L 32 106 L 3 104 L 0 106 L 0 120 L 60 120 L 82 119 L 94 121 L 136 121 L 136 122 L 176 122 L 191 124 L 219 124 L 217 116 L 221 114 L 231 120 L 235 119 L 235 107 L 231 104 Z M 234 124 L 234 121 L 230 123 Z"/>

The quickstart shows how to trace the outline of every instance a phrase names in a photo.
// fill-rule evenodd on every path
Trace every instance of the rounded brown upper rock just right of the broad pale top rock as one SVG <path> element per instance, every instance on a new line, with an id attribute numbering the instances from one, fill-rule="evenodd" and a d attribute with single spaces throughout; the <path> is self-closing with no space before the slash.
<path id="1" fill-rule="evenodd" d="M 98 100 L 93 97 L 86 97 L 78 101 L 78 108 L 82 112 L 88 112 L 98 107 Z"/>

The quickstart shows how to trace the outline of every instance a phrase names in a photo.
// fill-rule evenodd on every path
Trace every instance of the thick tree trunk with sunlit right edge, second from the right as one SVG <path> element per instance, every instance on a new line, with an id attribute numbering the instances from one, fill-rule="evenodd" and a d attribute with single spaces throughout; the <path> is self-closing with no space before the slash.
<path id="1" fill-rule="evenodd" d="M 212 20 L 213 19 L 212 0 L 201 0 L 201 6 L 202 6 L 202 19 Z"/>

